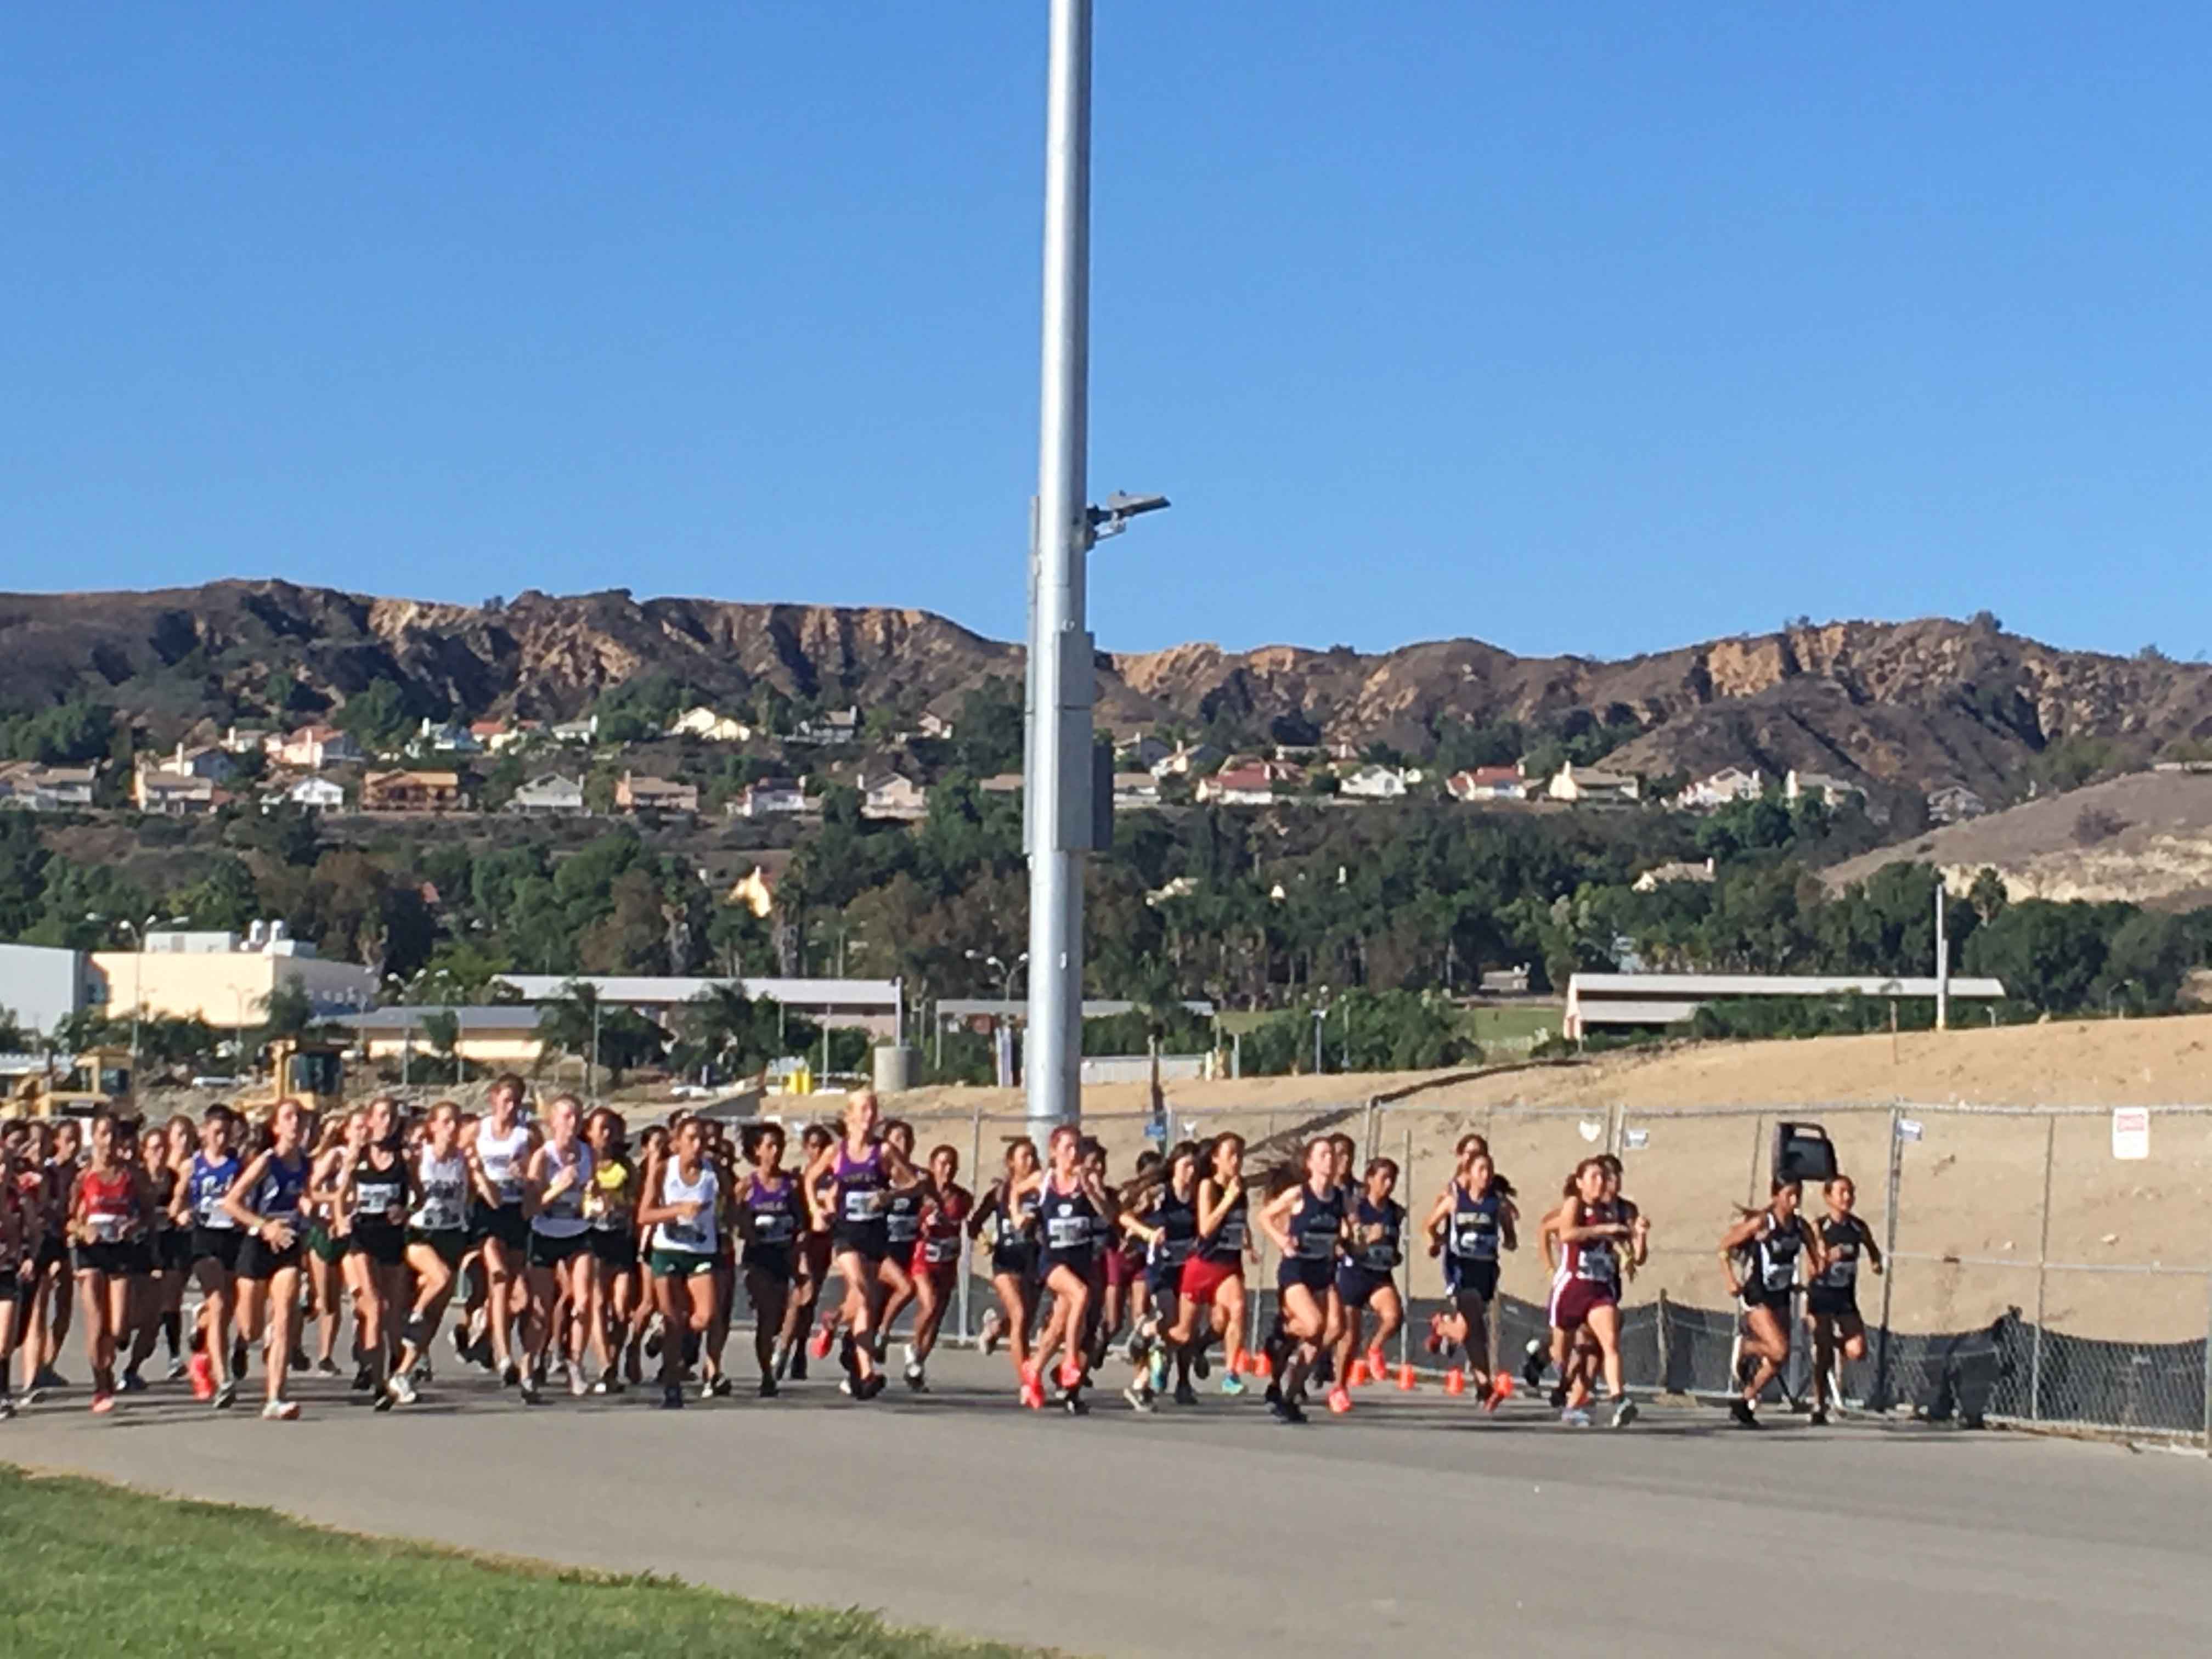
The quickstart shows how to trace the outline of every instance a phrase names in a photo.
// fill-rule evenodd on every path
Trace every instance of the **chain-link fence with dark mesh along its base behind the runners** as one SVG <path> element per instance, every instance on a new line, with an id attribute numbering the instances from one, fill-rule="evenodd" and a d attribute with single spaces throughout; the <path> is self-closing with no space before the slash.
<path id="1" fill-rule="evenodd" d="M 1115 1181 L 1146 1146 L 1225 1130 L 1248 1139 L 1254 1170 L 1327 1133 L 1394 1159 L 1409 1239 L 1407 1325 L 1391 1358 L 1413 1367 L 1433 1365 L 1420 1334 L 1444 1305 L 1420 1221 L 1451 1179 L 1458 1139 L 1469 1130 L 1489 1139 L 1522 1210 L 1524 1241 L 1504 1259 L 1495 1305 L 1502 1365 L 1546 1334 L 1551 1263 L 1535 1250 L 1537 1219 L 1575 1164 L 1617 1152 L 1624 1192 L 1652 1223 L 1650 1259 L 1624 1285 L 1628 1383 L 1725 1402 L 1741 1321 L 1719 1239 L 1736 1206 L 1765 1203 L 1776 1124 L 1820 1124 L 1885 1265 L 1860 1274 L 1867 1356 L 1838 1365 L 1834 1396 L 1845 1407 L 2188 1438 L 2212 1451 L 2212 1106 L 2137 1113 L 2117 1124 L 2104 1106 L 1431 1106 L 1416 1097 L 1272 1110 L 1170 1104 L 1164 1124 L 1108 1113 L 1084 1128 L 1106 1144 Z M 984 1113 L 933 1115 L 916 1128 L 925 1146 L 960 1146 L 978 1190 L 998 1177 L 1006 1139 L 1029 1135 L 1026 1119 Z M 2117 1157 L 2141 1150 L 2146 1133 L 2148 1157 Z M 1823 1214 L 1816 1190 L 1805 1206 L 1807 1217 Z M 1274 1252 L 1263 1239 L 1259 1250 L 1245 1279 L 1254 1332 L 1274 1316 Z M 995 1305 L 984 1272 L 975 1263 L 962 1279 L 949 1334 L 973 1338 Z M 1770 1398 L 1803 1405 L 1812 1394 L 1803 1292 L 1796 1312 L 1790 1367 Z"/>

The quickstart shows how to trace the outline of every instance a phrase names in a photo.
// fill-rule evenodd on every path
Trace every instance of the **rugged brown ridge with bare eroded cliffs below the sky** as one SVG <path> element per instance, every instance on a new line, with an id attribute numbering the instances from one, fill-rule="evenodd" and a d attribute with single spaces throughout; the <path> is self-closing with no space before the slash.
<path id="1" fill-rule="evenodd" d="M 1022 650 L 927 611 L 635 599 L 626 591 L 502 606 L 376 599 L 290 582 L 159 593 L 0 595 L 0 699 L 97 695 L 157 728 L 259 719 L 400 681 L 434 714 L 571 717 L 608 686 L 666 675 L 708 697 L 787 695 L 953 710 Z M 2006 792 L 2053 743 L 2115 761 L 2212 737 L 2212 668 L 2124 659 L 2002 633 L 1995 622 L 1836 622 L 1595 661 L 1515 657 L 1475 639 L 1391 653 L 1192 644 L 1099 657 L 1108 723 L 1230 721 L 1411 752 L 1458 721 L 1557 723 L 1586 710 L 1637 737 L 1648 774 L 1809 768 L 1902 801 L 1940 783 Z M 157 737 L 166 737 L 159 730 Z"/>

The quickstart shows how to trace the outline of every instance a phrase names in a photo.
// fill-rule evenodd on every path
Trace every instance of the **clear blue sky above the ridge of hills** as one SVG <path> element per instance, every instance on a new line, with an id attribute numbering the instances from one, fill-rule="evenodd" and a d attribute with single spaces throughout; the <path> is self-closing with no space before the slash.
<path id="1" fill-rule="evenodd" d="M 1042 0 L 219 11 L 0 20 L 0 588 L 1020 630 Z M 2212 11 L 1097 11 L 1102 644 L 2212 648 Z"/>

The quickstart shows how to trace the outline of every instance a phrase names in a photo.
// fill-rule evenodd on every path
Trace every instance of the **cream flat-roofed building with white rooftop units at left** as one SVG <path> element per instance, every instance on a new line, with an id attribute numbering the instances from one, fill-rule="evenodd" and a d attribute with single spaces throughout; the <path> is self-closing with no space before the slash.
<path id="1" fill-rule="evenodd" d="M 276 987 L 299 987 L 319 1018 L 376 1006 L 376 971 L 325 962 L 312 947 L 237 933 L 146 933 L 144 951 L 93 951 L 88 995 L 111 1018 L 144 1009 L 157 1020 L 250 1026 Z M 259 925 L 257 925 L 259 933 Z"/>

